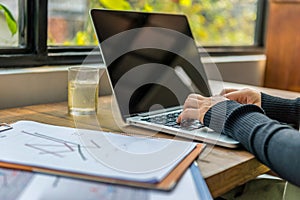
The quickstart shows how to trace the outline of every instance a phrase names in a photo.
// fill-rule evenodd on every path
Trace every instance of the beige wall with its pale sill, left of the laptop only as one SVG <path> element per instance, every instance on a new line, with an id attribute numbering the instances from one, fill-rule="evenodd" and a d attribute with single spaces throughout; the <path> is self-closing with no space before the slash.
<path id="1" fill-rule="evenodd" d="M 67 67 L 0 69 L 0 109 L 66 101 L 67 83 Z M 99 88 L 111 93 L 105 73 Z"/>

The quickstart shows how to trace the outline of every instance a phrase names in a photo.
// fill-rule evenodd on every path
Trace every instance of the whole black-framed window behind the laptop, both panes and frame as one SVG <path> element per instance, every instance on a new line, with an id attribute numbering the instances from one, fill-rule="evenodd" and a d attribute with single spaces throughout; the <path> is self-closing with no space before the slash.
<path id="1" fill-rule="evenodd" d="M 186 14 L 197 43 L 213 55 L 257 53 L 263 45 L 264 0 L 1 0 L 1 3 L 17 19 L 18 32 L 11 36 L 7 30 L 6 33 L 0 30 L 0 38 L 5 39 L 0 42 L 0 67 L 81 63 L 97 46 L 89 18 L 91 8 Z M 1 20 L 0 11 L 0 24 Z M 22 63 L 16 58 L 22 59 Z M 99 52 L 94 61 L 99 61 Z"/>

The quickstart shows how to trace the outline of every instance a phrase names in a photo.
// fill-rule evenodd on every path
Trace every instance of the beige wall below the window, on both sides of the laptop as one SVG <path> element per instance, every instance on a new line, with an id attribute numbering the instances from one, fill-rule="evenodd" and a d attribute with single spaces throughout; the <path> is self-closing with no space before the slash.
<path id="1" fill-rule="evenodd" d="M 211 63 L 214 62 L 214 64 Z M 210 79 L 262 86 L 265 56 L 241 56 L 203 60 Z M 100 95 L 111 93 L 106 73 Z M 67 67 L 0 69 L 0 109 L 67 100 Z"/>

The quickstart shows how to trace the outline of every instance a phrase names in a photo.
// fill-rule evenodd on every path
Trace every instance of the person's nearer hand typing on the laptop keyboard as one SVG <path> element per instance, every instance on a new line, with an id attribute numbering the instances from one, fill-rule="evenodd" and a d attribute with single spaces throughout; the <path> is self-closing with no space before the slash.
<path id="1" fill-rule="evenodd" d="M 223 96 L 204 97 L 200 94 L 190 94 L 183 105 L 183 111 L 177 118 L 177 123 L 183 120 L 196 119 L 203 123 L 205 113 L 216 103 L 228 100 Z"/>

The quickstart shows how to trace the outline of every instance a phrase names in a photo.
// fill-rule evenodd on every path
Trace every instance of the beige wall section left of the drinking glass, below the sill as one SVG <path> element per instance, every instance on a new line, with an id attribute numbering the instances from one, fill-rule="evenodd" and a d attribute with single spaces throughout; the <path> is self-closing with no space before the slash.
<path id="1" fill-rule="evenodd" d="M 64 101 L 66 72 L 0 75 L 0 108 Z"/>

